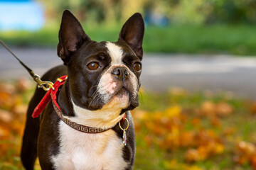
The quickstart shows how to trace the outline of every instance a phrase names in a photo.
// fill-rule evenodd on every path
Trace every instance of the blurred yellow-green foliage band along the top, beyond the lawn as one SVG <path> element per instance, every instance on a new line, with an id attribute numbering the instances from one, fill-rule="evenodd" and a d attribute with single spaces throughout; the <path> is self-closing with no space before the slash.
<path id="1" fill-rule="evenodd" d="M 154 13 L 172 24 L 255 23 L 255 0 L 38 0 L 46 6 L 46 17 L 57 18 L 65 9 L 80 21 L 114 23 L 135 12 Z M 58 17 L 57 17 L 58 16 Z"/>

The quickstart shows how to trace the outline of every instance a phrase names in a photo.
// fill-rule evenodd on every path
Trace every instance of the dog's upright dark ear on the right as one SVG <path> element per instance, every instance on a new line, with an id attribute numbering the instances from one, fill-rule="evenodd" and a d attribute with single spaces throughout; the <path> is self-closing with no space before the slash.
<path id="1" fill-rule="evenodd" d="M 129 47 L 135 52 L 137 57 L 142 60 L 143 49 L 142 42 L 144 37 L 144 21 L 142 14 L 134 13 L 124 26 L 119 34 L 119 40 L 124 40 L 127 42 Z"/>

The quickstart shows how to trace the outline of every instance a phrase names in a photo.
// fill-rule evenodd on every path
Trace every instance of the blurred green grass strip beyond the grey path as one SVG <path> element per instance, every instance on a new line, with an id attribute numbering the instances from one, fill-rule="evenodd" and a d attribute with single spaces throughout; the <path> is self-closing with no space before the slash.
<path id="1" fill-rule="evenodd" d="M 83 26 L 92 40 L 116 41 L 122 25 Z M 58 26 L 48 26 L 36 32 L 0 32 L 0 39 L 9 45 L 21 47 L 56 47 Z M 188 54 L 256 55 L 255 26 L 169 26 L 146 27 L 144 52 Z"/>

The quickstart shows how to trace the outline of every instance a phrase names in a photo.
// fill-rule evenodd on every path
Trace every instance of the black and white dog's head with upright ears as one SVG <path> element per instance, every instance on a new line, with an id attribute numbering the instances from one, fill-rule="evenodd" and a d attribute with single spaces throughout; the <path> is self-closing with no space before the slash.
<path id="1" fill-rule="evenodd" d="M 85 34 L 70 11 L 64 11 L 58 56 L 68 67 L 73 103 L 90 111 L 114 105 L 121 113 L 137 107 L 143 37 L 140 13 L 124 23 L 117 42 L 96 42 Z"/>

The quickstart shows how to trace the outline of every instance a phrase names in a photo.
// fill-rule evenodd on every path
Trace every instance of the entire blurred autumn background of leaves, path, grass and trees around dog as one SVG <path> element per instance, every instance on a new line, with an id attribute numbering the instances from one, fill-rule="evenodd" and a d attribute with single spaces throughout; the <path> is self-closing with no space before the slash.
<path id="1" fill-rule="evenodd" d="M 0 40 L 43 75 L 62 64 L 56 47 L 65 9 L 97 41 L 116 41 L 122 24 L 142 13 L 134 169 L 256 169 L 255 8 L 255 0 L 0 0 Z M 0 169 L 22 169 L 35 86 L 0 45 Z"/>

